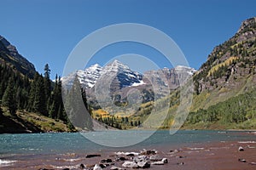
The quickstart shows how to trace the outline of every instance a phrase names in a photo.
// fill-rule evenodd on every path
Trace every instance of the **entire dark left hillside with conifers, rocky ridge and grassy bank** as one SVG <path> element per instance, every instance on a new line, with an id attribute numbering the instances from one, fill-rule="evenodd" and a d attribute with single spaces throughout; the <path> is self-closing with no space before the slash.
<path id="1" fill-rule="evenodd" d="M 61 98 L 61 77 L 52 82 L 49 65 L 40 75 L 15 46 L 0 39 L 0 133 L 73 130 Z"/>

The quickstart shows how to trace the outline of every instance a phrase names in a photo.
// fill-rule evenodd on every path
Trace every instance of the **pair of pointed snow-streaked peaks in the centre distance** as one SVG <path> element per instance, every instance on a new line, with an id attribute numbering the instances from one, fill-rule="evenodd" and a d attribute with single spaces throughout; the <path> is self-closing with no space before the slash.
<path id="1" fill-rule="evenodd" d="M 113 90 L 119 90 L 132 85 L 137 85 L 137 83 L 142 82 L 142 75 L 137 71 L 131 71 L 127 65 L 123 65 L 118 60 L 113 60 L 112 63 L 102 67 L 101 65 L 91 65 L 84 71 L 75 71 L 67 77 L 62 78 L 63 84 L 70 88 L 73 84 L 74 77 L 79 77 L 81 87 L 93 88 L 96 84 L 105 82 L 106 79 L 102 77 L 112 76 L 113 81 L 111 87 Z"/>

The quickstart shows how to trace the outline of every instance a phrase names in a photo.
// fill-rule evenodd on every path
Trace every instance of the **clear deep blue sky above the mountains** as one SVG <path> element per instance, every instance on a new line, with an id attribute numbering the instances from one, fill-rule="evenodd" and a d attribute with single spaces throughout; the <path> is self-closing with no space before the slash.
<path id="1" fill-rule="evenodd" d="M 219 43 L 233 36 L 242 20 L 256 16 L 255 0 L 0 0 L 0 35 L 42 72 L 62 73 L 75 45 L 92 31 L 118 23 L 140 23 L 164 31 L 198 69 Z M 156 54 L 134 43 L 98 53 Z M 93 63 L 93 62 L 92 62 Z M 91 64 L 92 64 L 91 63 Z M 160 67 L 169 66 L 161 62 Z"/>

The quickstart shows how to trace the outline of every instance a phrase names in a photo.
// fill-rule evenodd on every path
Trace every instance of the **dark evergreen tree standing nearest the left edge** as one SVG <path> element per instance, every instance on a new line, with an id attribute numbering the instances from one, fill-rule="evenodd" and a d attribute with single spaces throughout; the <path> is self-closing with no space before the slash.
<path id="1" fill-rule="evenodd" d="M 15 89 L 14 89 L 14 78 L 9 78 L 8 87 L 6 88 L 3 99 L 2 99 L 3 105 L 8 107 L 9 113 L 12 116 L 15 116 L 15 113 L 17 111 L 17 104 L 15 100 Z"/>

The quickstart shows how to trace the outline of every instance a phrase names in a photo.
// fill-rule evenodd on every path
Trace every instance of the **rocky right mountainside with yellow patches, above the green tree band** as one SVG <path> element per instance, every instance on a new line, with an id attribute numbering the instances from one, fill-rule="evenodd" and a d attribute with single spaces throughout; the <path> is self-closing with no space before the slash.
<path id="1" fill-rule="evenodd" d="M 254 88 L 255 65 L 256 17 L 253 17 L 241 23 L 235 36 L 214 48 L 195 74 L 195 91 L 206 99 L 193 110 L 207 108 Z"/>

